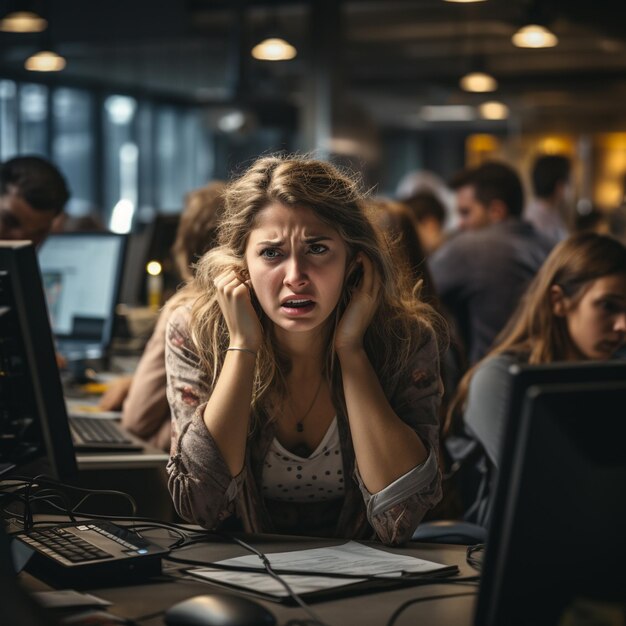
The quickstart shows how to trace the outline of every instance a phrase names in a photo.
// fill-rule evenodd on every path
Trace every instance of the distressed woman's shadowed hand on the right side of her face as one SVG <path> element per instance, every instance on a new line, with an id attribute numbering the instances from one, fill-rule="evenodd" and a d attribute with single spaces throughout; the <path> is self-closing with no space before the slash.
<path id="1" fill-rule="evenodd" d="M 357 254 L 355 262 L 363 268 L 363 275 L 353 287 L 350 302 L 337 327 L 335 350 L 338 354 L 363 347 L 363 336 L 378 306 L 380 277 L 374 264 L 362 252 Z"/>

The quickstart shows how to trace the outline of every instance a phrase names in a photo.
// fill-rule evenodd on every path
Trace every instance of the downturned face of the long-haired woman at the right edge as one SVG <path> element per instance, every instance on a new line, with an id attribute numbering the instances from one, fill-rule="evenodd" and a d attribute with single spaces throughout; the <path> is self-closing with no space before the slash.
<path id="1" fill-rule="evenodd" d="M 578 358 L 611 358 L 626 339 L 626 275 L 598 278 L 576 303 L 564 298 L 563 317 Z"/>

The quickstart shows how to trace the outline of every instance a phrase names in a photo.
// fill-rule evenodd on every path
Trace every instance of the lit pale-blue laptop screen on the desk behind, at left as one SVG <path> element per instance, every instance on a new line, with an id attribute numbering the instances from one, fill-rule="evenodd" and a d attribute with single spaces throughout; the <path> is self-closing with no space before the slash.
<path id="1" fill-rule="evenodd" d="M 50 325 L 61 352 L 71 346 L 97 357 L 108 348 L 124 244 L 125 236 L 116 233 L 61 233 L 39 248 Z"/>

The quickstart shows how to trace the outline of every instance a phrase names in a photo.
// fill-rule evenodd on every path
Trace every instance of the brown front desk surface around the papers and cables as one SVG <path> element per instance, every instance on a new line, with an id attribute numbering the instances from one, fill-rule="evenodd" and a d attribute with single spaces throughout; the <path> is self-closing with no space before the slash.
<path id="1" fill-rule="evenodd" d="M 161 531 L 144 533 L 158 543 L 167 544 L 171 539 Z M 298 537 L 279 537 L 276 535 L 248 536 L 246 540 L 263 552 L 282 552 L 328 545 L 337 545 L 338 541 L 322 539 L 306 539 Z M 465 561 L 465 546 L 444 544 L 412 543 L 394 551 L 410 554 L 420 558 L 458 565 L 460 576 L 473 576 L 476 572 Z M 183 553 L 178 553 L 183 556 Z M 185 558 L 218 561 L 233 556 L 248 554 L 238 545 L 223 542 L 212 542 L 196 545 L 184 551 Z M 224 592 L 224 589 L 191 577 L 181 572 L 185 566 L 164 561 L 163 581 L 126 587 L 109 587 L 89 589 L 101 598 L 109 600 L 112 605 L 109 612 L 131 619 L 154 615 L 192 596 Z M 29 575 L 21 575 L 30 589 L 45 589 L 43 583 Z M 469 585 L 446 584 L 444 580 L 437 584 L 406 587 L 392 591 L 381 591 L 369 595 L 357 595 L 343 599 L 321 601 L 311 604 L 315 613 L 328 626 L 385 626 L 394 611 L 404 602 L 414 598 L 433 598 L 417 602 L 408 607 L 395 622 L 395 626 L 414 626 L 415 624 L 437 626 L 471 626 L 473 619 L 475 595 L 441 598 L 438 596 L 455 596 L 457 594 L 475 594 L 477 587 Z M 438 598 L 437 598 L 438 597 Z M 299 607 L 284 606 L 274 602 L 257 600 L 270 609 L 277 617 L 279 626 L 290 619 L 305 618 L 306 613 Z M 145 626 L 163 626 L 163 615 L 142 620 Z"/>

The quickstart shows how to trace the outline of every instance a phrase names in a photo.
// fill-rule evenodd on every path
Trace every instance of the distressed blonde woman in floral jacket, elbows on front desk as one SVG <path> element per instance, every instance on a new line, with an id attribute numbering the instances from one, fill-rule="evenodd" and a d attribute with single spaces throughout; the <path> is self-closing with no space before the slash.
<path id="1" fill-rule="evenodd" d="M 166 335 L 179 515 L 408 541 L 441 498 L 437 315 L 411 287 L 328 163 L 265 157 L 232 182 Z"/>

